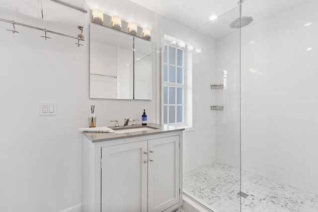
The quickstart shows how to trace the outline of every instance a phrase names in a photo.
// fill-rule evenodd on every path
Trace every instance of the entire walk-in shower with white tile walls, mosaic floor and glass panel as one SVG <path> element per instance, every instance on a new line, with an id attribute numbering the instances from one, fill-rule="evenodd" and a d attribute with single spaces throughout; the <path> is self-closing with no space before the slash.
<path id="1" fill-rule="evenodd" d="M 213 212 L 317 212 L 318 1 L 238 3 L 195 30 L 158 18 L 158 49 L 183 48 L 191 68 L 184 195 Z"/>

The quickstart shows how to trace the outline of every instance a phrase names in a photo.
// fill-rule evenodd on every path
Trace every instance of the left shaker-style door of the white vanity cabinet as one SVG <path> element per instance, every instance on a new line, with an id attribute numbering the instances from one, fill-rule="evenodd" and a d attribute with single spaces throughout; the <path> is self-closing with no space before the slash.
<path id="1" fill-rule="evenodd" d="M 147 141 L 102 147 L 101 212 L 147 212 L 147 147 Z"/>

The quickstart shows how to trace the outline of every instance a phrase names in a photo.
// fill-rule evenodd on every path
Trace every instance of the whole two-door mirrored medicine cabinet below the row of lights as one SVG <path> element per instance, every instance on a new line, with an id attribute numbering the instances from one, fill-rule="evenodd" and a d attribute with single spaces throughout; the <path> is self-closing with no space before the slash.
<path id="1" fill-rule="evenodd" d="M 152 99 L 150 41 L 90 24 L 89 44 L 90 98 Z"/>

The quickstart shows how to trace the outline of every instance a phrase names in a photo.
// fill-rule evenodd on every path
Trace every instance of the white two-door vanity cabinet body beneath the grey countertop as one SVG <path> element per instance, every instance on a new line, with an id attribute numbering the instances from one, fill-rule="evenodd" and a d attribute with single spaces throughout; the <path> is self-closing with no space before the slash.
<path id="1" fill-rule="evenodd" d="M 82 212 L 171 212 L 182 205 L 182 131 L 81 140 Z"/>

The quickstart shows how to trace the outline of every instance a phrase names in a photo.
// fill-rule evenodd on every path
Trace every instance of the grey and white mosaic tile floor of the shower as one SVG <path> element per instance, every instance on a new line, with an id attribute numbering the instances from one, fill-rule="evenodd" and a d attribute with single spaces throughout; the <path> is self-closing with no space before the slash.
<path id="1" fill-rule="evenodd" d="M 242 212 L 318 212 L 318 195 L 242 171 Z M 239 212 L 239 169 L 211 163 L 183 176 L 183 191 L 217 212 Z"/>

